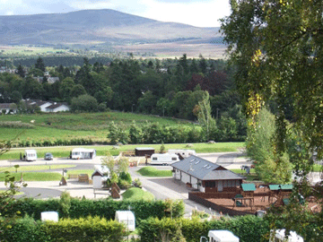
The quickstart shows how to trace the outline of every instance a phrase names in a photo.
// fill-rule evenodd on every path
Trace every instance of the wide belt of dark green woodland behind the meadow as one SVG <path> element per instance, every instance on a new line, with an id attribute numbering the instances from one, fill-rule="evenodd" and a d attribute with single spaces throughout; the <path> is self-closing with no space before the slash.
<path id="1" fill-rule="evenodd" d="M 49 83 L 48 74 L 59 81 Z M 39 57 L 31 67 L 18 65 L 16 73 L 0 74 L 0 101 L 19 107 L 21 99 L 54 100 L 67 102 L 73 112 L 109 108 L 199 122 L 205 101 L 210 103 L 210 118 L 216 119 L 216 129 L 207 139 L 214 139 L 214 132 L 223 133 L 223 141 L 240 141 L 246 125 L 231 74 L 223 60 L 203 56 L 162 60 L 130 56 L 105 65 L 92 65 L 85 57 L 82 66 L 56 67 L 46 66 Z"/>

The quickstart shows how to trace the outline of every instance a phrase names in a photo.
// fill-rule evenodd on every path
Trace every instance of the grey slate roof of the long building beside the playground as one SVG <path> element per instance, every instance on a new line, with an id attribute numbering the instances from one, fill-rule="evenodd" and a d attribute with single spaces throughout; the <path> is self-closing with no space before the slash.
<path id="1" fill-rule="evenodd" d="M 175 169 L 179 169 L 192 177 L 196 177 L 199 180 L 245 179 L 245 177 L 242 177 L 229 169 L 225 169 L 222 166 L 199 158 L 195 155 L 191 155 L 184 160 L 174 162 L 170 166 Z"/>

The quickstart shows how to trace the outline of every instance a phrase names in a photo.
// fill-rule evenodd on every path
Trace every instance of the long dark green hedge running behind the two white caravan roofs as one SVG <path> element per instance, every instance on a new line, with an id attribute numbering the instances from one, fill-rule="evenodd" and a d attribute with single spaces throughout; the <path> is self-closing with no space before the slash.
<path id="1" fill-rule="evenodd" d="M 87 216 L 100 216 L 107 220 L 113 220 L 118 210 L 128 210 L 135 213 L 136 222 L 146 220 L 149 217 L 162 219 L 171 216 L 179 218 L 184 214 L 182 200 L 158 200 L 158 201 L 115 201 L 112 199 L 87 200 L 79 198 L 37 200 L 32 198 L 14 200 L 10 209 L 3 215 L 12 216 L 16 212 L 29 215 L 35 220 L 40 220 L 41 212 L 56 211 L 59 218 L 85 218 Z M 171 212 L 170 212 L 171 207 Z"/>

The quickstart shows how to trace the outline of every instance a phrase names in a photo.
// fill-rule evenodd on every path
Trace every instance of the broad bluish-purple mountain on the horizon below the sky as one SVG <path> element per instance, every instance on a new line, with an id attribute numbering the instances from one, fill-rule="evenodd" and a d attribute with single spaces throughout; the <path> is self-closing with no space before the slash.
<path id="1" fill-rule="evenodd" d="M 0 16 L 0 45 L 124 45 L 191 41 L 211 43 L 219 28 L 158 22 L 104 9 Z"/>

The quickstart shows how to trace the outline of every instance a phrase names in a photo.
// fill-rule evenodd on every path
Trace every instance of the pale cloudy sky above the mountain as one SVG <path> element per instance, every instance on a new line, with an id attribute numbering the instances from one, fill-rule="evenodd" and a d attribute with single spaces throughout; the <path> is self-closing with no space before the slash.
<path id="1" fill-rule="evenodd" d="M 162 22 L 219 27 L 230 14 L 229 0 L 0 0 L 0 15 L 68 13 L 114 9 Z"/>

